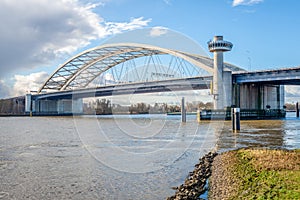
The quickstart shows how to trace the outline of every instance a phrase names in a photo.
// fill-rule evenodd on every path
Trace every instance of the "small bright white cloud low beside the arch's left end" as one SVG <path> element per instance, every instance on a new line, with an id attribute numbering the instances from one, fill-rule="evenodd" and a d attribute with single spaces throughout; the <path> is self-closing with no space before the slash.
<path id="1" fill-rule="evenodd" d="M 37 91 L 49 75 L 46 72 L 37 72 L 29 75 L 15 75 L 12 96 L 21 96 L 29 91 Z"/>

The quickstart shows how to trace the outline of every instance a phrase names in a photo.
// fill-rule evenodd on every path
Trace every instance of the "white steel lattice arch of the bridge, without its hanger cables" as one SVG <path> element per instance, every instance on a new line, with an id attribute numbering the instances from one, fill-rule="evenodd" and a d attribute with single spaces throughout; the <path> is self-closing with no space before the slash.
<path id="1" fill-rule="evenodd" d="M 106 44 L 79 53 L 62 64 L 46 80 L 38 90 L 38 93 L 45 90 L 66 91 L 87 88 L 97 77 L 103 75 L 109 69 L 127 61 L 153 55 L 170 55 L 191 63 L 196 68 L 209 74 L 213 73 L 213 60 L 209 57 L 147 44 Z M 225 70 L 244 71 L 229 63 L 224 63 L 224 65 Z"/>

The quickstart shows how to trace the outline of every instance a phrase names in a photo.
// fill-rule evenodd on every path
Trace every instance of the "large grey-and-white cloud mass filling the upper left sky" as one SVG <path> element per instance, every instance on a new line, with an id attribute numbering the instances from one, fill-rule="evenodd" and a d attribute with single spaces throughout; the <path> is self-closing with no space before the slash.
<path id="1" fill-rule="evenodd" d="M 0 1 L 0 77 L 50 65 L 62 55 L 110 34 L 147 26 L 149 19 L 106 22 L 93 12 L 102 4 L 79 0 Z"/>

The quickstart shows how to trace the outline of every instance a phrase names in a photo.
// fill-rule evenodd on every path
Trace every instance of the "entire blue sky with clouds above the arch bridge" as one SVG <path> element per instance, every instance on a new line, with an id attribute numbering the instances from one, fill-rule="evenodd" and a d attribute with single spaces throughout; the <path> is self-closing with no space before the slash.
<path id="1" fill-rule="evenodd" d="M 297 67 L 299 9 L 297 0 L 1 0 L 0 98 L 37 90 L 70 57 L 145 28 L 179 32 L 209 56 L 207 42 L 223 35 L 234 45 L 225 61 L 246 70 Z"/>

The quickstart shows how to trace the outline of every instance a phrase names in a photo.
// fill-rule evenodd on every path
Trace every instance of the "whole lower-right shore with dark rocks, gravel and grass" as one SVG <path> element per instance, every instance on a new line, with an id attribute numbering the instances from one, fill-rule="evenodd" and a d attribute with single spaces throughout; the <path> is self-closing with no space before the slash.
<path id="1" fill-rule="evenodd" d="M 298 185 L 300 149 L 241 148 L 204 155 L 167 200 L 300 199 Z"/>

